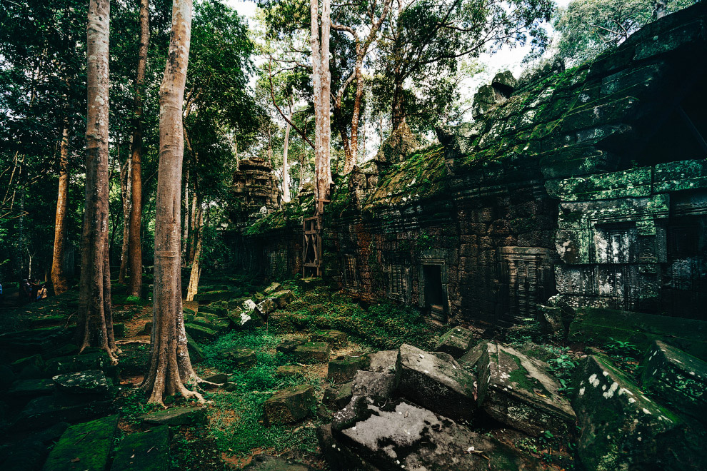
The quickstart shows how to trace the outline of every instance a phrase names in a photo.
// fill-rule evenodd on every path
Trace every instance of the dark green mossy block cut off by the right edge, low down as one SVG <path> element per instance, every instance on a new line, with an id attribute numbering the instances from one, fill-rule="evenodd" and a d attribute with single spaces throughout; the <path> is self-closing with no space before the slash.
<path id="1" fill-rule="evenodd" d="M 707 422 L 707 363 L 656 340 L 643 360 L 642 381 L 663 404 Z"/>

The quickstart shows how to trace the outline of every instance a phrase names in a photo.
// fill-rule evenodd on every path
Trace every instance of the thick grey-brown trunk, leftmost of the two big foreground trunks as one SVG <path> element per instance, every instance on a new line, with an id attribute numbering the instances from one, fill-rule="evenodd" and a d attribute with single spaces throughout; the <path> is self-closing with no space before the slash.
<path id="1" fill-rule="evenodd" d="M 88 66 L 86 114 L 86 203 L 81 236 L 79 351 L 106 350 L 117 363 L 111 311 L 111 273 L 108 255 L 108 116 L 109 116 L 109 0 L 90 0 L 86 28 Z"/>

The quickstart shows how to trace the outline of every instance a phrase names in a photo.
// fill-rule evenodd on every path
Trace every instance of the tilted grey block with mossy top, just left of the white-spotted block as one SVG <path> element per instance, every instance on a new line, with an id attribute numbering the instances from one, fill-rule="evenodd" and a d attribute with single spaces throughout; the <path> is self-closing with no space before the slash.
<path id="1" fill-rule="evenodd" d="M 576 416 L 559 387 L 545 363 L 486 343 L 478 362 L 478 405 L 494 419 L 529 435 L 566 435 Z"/>

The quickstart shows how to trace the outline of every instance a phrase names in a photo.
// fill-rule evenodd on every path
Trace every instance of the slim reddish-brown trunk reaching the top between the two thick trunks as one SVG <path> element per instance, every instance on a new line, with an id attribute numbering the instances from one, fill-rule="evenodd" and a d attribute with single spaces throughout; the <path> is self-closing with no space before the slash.
<path id="1" fill-rule="evenodd" d="M 128 294 L 142 295 L 142 100 L 147 66 L 147 46 L 150 42 L 149 0 L 140 0 L 140 48 L 135 79 L 135 126 L 130 157 L 131 208 L 130 208 L 130 285 Z"/>

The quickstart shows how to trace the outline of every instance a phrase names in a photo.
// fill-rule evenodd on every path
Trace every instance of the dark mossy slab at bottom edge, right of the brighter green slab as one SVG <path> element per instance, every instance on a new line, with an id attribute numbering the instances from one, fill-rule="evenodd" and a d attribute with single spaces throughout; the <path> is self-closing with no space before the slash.
<path id="1" fill-rule="evenodd" d="M 111 471 L 168 471 L 169 465 L 169 425 L 161 425 L 121 440 Z"/>

